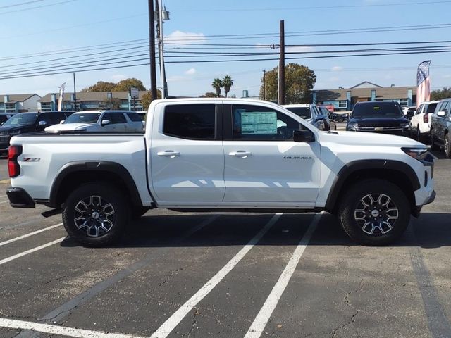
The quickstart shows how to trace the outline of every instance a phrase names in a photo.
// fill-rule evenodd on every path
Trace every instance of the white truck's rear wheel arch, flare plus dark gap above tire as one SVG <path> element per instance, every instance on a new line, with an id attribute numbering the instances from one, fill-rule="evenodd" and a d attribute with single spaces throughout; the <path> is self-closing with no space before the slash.
<path id="1" fill-rule="evenodd" d="M 63 165 L 51 185 L 48 205 L 61 208 L 73 189 L 89 182 L 113 183 L 128 196 L 132 206 L 142 206 L 132 175 L 123 165 L 110 161 L 74 161 Z"/>

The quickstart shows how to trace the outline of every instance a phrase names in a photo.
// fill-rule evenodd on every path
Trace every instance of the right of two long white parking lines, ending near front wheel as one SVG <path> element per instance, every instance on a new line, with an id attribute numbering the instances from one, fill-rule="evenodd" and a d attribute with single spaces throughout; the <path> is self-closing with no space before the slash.
<path id="1" fill-rule="evenodd" d="M 265 303 L 263 304 L 263 306 L 261 306 L 257 317 L 254 319 L 254 323 L 252 323 L 252 325 L 249 327 L 249 330 L 247 330 L 245 338 L 259 338 L 261 336 L 261 333 L 263 333 L 264 328 L 266 327 L 266 324 L 271 317 L 271 314 L 276 308 L 280 297 L 282 296 L 285 288 L 288 285 L 288 282 L 290 282 L 291 276 L 296 270 L 296 266 L 301 259 L 302 253 L 304 253 L 305 249 L 307 248 L 307 244 L 309 244 L 310 242 L 311 235 L 314 233 L 316 225 L 318 225 L 322 214 L 323 213 L 317 213 L 314 219 L 311 221 L 309 229 L 302 237 L 301 242 L 299 242 L 299 244 L 297 245 L 295 252 L 293 252 L 290 261 L 288 261 L 287 266 L 285 266 L 283 273 L 280 275 Z"/>

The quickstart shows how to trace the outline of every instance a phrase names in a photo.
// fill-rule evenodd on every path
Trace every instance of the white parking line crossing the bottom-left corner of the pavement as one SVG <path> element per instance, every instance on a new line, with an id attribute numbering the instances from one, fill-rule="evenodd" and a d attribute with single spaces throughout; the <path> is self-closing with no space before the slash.
<path id="1" fill-rule="evenodd" d="M 75 337 L 75 338 L 141 338 L 135 334 L 118 334 L 106 333 L 100 331 L 75 329 L 74 327 L 65 327 L 58 325 L 49 325 L 33 322 L 25 322 L 24 320 L 15 320 L 0 318 L 0 327 L 8 327 L 10 329 L 32 330 L 48 334 L 58 334 L 59 336 Z M 144 338 L 144 337 L 142 337 Z"/>

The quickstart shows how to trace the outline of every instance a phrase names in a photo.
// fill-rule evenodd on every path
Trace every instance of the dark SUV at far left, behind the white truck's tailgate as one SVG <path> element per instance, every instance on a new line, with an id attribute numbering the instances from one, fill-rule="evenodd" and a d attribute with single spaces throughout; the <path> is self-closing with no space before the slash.
<path id="1" fill-rule="evenodd" d="M 44 113 L 18 113 L 0 127 L 0 154 L 8 152 L 9 140 L 14 135 L 42 132 L 49 125 L 56 125 L 73 113 L 72 111 L 46 111 Z"/>

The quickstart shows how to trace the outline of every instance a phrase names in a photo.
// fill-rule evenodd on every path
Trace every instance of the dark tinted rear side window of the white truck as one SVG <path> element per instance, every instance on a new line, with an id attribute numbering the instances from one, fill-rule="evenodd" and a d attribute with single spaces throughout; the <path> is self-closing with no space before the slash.
<path id="1" fill-rule="evenodd" d="M 163 134 L 181 139 L 215 138 L 214 104 L 178 104 L 166 106 Z"/>

